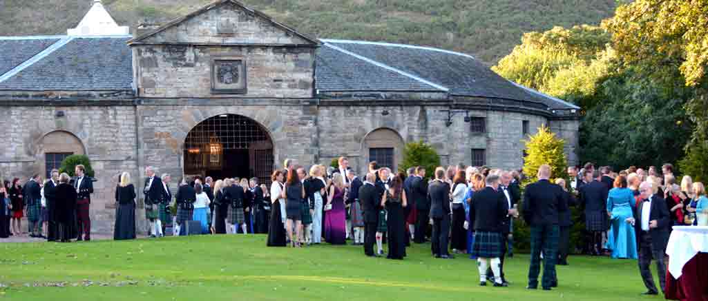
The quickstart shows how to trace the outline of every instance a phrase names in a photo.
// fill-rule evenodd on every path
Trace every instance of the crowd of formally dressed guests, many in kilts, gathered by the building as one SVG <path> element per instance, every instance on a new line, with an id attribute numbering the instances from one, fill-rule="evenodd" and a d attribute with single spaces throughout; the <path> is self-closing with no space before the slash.
<path id="1" fill-rule="evenodd" d="M 550 290 L 558 285 L 555 265 L 567 265 L 573 223 L 571 207 L 583 208 L 586 242 L 583 252 L 612 258 L 639 259 L 648 291 L 658 294 L 649 264 L 656 259 L 664 289 L 664 252 L 673 225 L 695 225 L 696 213 L 708 208 L 704 185 L 685 175 L 677 184 L 670 164 L 647 171 L 629 167 L 612 172 L 592 163 L 569 167 L 567 178 L 552 181 L 542 165 L 537 182 L 520 187 L 515 170 L 488 167 L 437 167 L 426 179 L 426 167 L 394 173 L 376 162 L 362 178 L 347 158 L 338 168 L 309 169 L 285 160 L 271 176 L 270 189 L 258 178 L 183 178 L 176 195 L 171 175 L 145 169 L 144 204 L 151 237 L 192 234 L 267 233 L 269 247 L 329 244 L 362 245 L 366 256 L 404 259 L 411 244 L 430 242 L 432 256 L 452 259 L 467 254 L 477 261 L 480 285 L 508 286 L 505 257 L 513 252 L 513 222 L 530 226 L 531 259 L 527 288 Z M 26 214 L 31 237 L 50 241 L 91 240 L 89 204 L 93 180 L 76 166 L 76 177 L 51 172 L 0 187 L 0 237 L 21 233 Z M 115 240 L 136 237 L 137 193 L 130 174 L 122 172 L 115 189 Z M 519 208 L 521 203 L 521 208 Z M 169 233 L 171 231 L 171 233 Z M 384 252 L 384 244 L 387 250 Z"/>

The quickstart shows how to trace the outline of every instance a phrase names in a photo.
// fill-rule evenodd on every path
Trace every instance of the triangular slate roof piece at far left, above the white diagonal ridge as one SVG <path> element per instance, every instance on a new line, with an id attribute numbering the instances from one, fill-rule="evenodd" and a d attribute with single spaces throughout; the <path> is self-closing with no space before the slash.
<path id="1" fill-rule="evenodd" d="M 34 57 L 58 40 L 59 37 L 37 39 L 0 37 L 0 75 Z"/>

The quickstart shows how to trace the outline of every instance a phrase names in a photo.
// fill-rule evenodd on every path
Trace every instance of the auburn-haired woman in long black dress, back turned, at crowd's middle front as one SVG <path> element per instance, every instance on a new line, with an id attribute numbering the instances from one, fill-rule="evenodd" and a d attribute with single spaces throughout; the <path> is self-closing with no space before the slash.
<path id="1" fill-rule="evenodd" d="M 408 206 L 406 191 L 403 190 L 403 180 L 396 176 L 389 184 L 382 200 L 386 206 L 388 227 L 388 259 L 403 259 L 406 256 L 406 218 L 404 208 Z"/>

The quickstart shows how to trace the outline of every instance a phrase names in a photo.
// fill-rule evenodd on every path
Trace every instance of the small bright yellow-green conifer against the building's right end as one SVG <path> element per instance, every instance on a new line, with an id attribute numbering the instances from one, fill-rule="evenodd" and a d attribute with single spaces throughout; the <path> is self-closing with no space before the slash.
<path id="1" fill-rule="evenodd" d="M 566 142 L 556 137 L 547 126 L 539 127 L 538 132 L 529 136 L 524 143 L 526 158 L 523 170 L 527 182 L 537 180 L 538 167 L 544 164 L 551 166 L 552 178 L 567 177 L 568 161 L 564 152 Z"/>

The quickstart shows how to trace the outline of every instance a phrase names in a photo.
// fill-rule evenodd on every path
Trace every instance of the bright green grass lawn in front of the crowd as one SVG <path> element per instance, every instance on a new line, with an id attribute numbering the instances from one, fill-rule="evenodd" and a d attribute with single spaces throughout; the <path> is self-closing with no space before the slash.
<path id="1" fill-rule="evenodd" d="M 527 255 L 508 260 L 509 288 L 480 287 L 476 261 L 433 259 L 429 244 L 403 261 L 268 248 L 264 235 L 2 243 L 0 254 L 0 300 L 663 300 L 639 295 L 634 260 L 571 256 L 559 288 L 530 291 Z"/>

